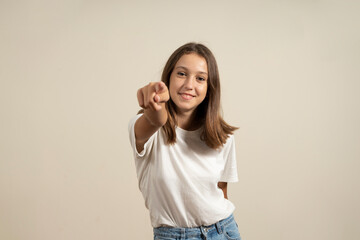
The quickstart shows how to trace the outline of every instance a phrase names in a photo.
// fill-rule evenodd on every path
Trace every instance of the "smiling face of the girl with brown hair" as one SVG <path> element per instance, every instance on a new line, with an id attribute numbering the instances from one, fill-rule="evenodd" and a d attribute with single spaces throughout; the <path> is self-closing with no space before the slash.
<path id="1" fill-rule="evenodd" d="M 170 75 L 170 98 L 178 113 L 192 113 L 205 99 L 208 69 L 205 58 L 184 54 Z"/>

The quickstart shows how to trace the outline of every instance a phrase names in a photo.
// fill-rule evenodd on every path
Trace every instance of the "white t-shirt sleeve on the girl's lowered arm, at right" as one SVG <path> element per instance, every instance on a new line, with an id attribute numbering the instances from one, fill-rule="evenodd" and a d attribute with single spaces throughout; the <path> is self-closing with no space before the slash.
<path id="1" fill-rule="evenodd" d="M 220 182 L 238 182 L 236 150 L 234 135 L 230 135 L 224 146 L 224 171 L 220 177 Z"/>

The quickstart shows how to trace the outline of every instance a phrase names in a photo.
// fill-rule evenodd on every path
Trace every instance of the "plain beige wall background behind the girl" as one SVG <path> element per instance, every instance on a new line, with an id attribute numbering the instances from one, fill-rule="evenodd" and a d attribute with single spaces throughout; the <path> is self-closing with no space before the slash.
<path id="1" fill-rule="evenodd" d="M 213 50 L 247 240 L 360 235 L 358 1 L 0 1 L 0 239 L 152 239 L 127 124 Z"/>

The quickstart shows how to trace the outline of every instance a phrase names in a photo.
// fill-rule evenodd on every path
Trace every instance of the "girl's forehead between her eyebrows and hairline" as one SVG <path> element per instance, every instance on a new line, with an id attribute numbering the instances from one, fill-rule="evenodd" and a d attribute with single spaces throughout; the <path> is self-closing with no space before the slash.
<path id="1" fill-rule="evenodd" d="M 175 65 L 175 68 L 181 67 L 194 72 L 208 72 L 206 59 L 196 53 L 182 55 Z"/>

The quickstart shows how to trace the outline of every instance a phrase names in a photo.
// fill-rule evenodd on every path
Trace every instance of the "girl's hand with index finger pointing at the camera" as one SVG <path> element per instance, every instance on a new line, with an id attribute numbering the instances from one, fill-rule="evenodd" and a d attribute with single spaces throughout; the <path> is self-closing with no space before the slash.
<path id="1" fill-rule="evenodd" d="M 169 100 L 169 90 L 164 82 L 151 82 L 137 91 L 137 98 L 140 107 L 159 111 Z"/>

